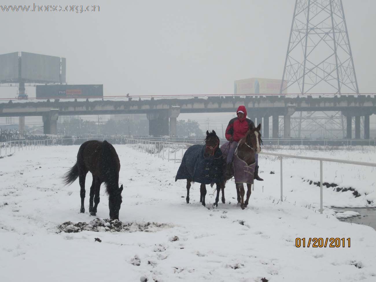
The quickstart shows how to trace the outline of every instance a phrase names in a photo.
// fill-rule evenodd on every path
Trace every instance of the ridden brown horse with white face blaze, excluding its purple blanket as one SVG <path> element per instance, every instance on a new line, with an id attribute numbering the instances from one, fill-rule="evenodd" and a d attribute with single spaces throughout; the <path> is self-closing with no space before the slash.
<path id="1" fill-rule="evenodd" d="M 255 163 L 256 161 L 255 153 L 261 152 L 260 144 L 262 144 L 262 140 L 261 140 L 260 129 L 261 129 L 261 124 L 259 124 L 256 128 L 249 129 L 246 133 L 246 136 L 240 139 L 237 150 L 235 151 L 237 153 L 238 158 L 246 162 L 248 166 Z M 222 145 L 221 150 L 223 150 L 224 147 L 226 147 L 226 143 Z M 224 167 L 224 169 L 226 170 L 226 167 Z M 222 190 L 222 202 L 223 203 L 225 202 L 224 187 L 226 185 L 226 181 L 231 179 L 234 173 L 232 171 L 227 171 L 227 173 L 225 173 L 225 176 L 226 175 L 229 175 L 229 177 L 226 177 L 224 179 L 220 187 L 217 186 L 217 197 L 215 198 L 215 203 L 213 204 L 213 206 L 214 205 L 218 206 L 220 189 Z M 235 183 L 238 204 L 240 204 L 242 209 L 246 208 L 249 203 L 249 197 L 251 196 L 251 193 L 252 193 L 251 191 L 252 183 L 247 183 L 247 198 L 245 202 L 244 202 L 244 194 L 245 194 L 244 183 Z"/>

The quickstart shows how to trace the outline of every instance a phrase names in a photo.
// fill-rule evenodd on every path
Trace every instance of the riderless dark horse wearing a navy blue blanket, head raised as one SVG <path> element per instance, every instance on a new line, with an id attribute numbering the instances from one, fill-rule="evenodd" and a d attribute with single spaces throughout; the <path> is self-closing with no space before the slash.
<path id="1" fill-rule="evenodd" d="M 184 153 L 182 163 L 176 173 L 175 181 L 186 179 L 186 202 L 190 201 L 191 182 L 198 182 L 201 183 L 200 203 L 205 206 L 206 184 L 215 183 L 217 187 L 220 187 L 220 183 L 223 181 L 222 167 L 223 159 L 219 149 L 219 138 L 214 130 L 210 133 L 206 131 L 205 145 L 189 147 Z"/>

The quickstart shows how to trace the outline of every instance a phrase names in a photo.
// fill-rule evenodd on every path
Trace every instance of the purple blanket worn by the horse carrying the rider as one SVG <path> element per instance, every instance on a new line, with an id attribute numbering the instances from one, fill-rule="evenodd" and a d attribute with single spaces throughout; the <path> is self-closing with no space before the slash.
<path id="1" fill-rule="evenodd" d="M 229 142 L 226 142 L 221 146 L 222 158 L 224 159 L 224 162 L 226 162 L 229 149 Z M 238 149 L 235 150 L 235 154 L 232 159 L 235 183 L 253 184 L 253 175 L 255 174 L 256 162 L 247 165 L 245 161 L 238 157 L 237 153 Z"/>

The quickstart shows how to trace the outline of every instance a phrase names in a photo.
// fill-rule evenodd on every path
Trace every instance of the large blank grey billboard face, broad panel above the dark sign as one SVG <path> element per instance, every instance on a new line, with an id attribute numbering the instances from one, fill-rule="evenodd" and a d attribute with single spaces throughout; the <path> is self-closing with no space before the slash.
<path id="1" fill-rule="evenodd" d="M 21 52 L 21 77 L 25 82 L 60 82 L 60 57 Z"/>

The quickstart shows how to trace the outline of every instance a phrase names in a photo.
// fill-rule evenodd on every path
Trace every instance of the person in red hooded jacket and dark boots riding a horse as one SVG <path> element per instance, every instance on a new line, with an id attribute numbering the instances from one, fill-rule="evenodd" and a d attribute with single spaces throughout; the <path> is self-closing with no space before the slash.
<path id="1" fill-rule="evenodd" d="M 230 141 L 229 154 L 227 155 L 226 171 L 231 170 L 232 158 L 238 146 L 238 142 L 243 138 L 249 129 L 255 128 L 252 120 L 247 118 L 247 110 L 245 106 L 239 106 L 237 109 L 237 117 L 232 118 L 226 128 L 226 139 Z M 263 181 L 258 176 L 258 153 L 255 153 L 256 167 L 253 179 Z"/>

